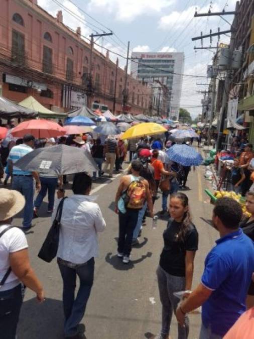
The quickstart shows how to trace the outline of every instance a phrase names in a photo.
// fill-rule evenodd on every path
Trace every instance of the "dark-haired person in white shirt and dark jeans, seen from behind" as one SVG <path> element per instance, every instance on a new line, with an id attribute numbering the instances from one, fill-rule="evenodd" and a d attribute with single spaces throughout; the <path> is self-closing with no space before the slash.
<path id="1" fill-rule="evenodd" d="M 98 257 L 97 232 L 104 231 L 106 226 L 98 204 L 89 196 L 91 187 L 91 177 L 85 173 L 75 174 L 74 194 L 65 199 L 62 209 L 57 263 L 63 279 L 64 333 L 69 339 L 84 338 L 78 325 L 93 285 L 94 257 Z M 63 195 L 58 191 L 58 198 Z M 80 286 L 75 299 L 77 276 Z"/>

